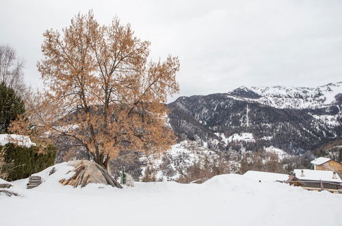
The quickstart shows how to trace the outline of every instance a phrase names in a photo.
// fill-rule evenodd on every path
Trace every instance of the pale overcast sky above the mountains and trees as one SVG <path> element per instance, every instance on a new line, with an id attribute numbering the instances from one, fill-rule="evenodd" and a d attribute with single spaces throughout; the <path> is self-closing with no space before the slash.
<path id="1" fill-rule="evenodd" d="M 92 9 L 101 24 L 118 16 L 151 42 L 151 58 L 178 55 L 179 96 L 239 86 L 308 86 L 342 81 L 342 1 L 14 1 L 0 3 L 0 45 L 26 60 L 25 78 L 42 86 L 36 62 L 46 29 Z"/>

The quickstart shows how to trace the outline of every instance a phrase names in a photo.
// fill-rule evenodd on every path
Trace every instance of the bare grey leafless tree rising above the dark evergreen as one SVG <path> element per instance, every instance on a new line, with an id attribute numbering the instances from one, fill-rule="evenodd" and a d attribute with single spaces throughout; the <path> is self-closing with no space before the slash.
<path id="1" fill-rule="evenodd" d="M 18 58 L 16 51 L 7 45 L 0 45 L 0 82 L 14 89 L 18 95 L 26 92 L 23 82 L 25 61 Z"/>

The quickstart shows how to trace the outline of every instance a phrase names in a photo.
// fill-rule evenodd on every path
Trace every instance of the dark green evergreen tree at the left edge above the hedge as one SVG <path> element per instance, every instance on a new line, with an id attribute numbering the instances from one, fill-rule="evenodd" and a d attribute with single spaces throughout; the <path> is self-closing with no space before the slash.
<path id="1" fill-rule="evenodd" d="M 24 101 L 16 95 L 14 90 L 0 84 L 0 134 L 7 134 L 10 123 L 25 112 Z"/>

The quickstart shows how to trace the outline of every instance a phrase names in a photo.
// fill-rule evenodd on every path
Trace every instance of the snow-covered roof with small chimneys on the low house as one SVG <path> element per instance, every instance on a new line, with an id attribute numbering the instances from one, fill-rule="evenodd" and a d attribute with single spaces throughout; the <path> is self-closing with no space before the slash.
<path id="1" fill-rule="evenodd" d="M 302 171 L 304 176 L 302 177 Z M 295 177 L 298 179 L 307 179 L 313 181 L 331 181 L 342 183 L 342 179 L 338 173 L 335 173 L 336 178 L 333 178 L 334 171 L 314 171 L 309 169 L 295 169 Z"/>

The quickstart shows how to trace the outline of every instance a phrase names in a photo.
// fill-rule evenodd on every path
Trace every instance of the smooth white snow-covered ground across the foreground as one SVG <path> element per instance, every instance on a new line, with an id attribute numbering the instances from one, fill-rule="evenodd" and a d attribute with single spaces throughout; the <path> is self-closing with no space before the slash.
<path id="1" fill-rule="evenodd" d="M 0 196 L 0 225 L 342 225 L 342 194 L 309 192 L 251 175 L 220 175 L 204 184 L 135 183 L 119 190 L 92 184 L 62 186 L 71 169 L 38 173 L 44 182 Z M 70 173 L 69 173 L 70 174 Z M 68 175 L 70 176 L 70 175 Z M 268 177 L 267 177 L 268 178 Z"/>

